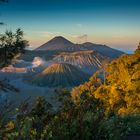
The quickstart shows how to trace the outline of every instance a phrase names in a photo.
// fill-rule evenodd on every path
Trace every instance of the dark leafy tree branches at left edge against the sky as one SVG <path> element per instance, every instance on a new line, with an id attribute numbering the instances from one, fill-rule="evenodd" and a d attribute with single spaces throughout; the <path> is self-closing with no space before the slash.
<path id="1" fill-rule="evenodd" d="M 23 31 L 17 29 L 15 33 L 6 31 L 0 35 L 0 64 L 6 65 L 17 55 L 24 52 L 28 42 L 23 39 Z"/>

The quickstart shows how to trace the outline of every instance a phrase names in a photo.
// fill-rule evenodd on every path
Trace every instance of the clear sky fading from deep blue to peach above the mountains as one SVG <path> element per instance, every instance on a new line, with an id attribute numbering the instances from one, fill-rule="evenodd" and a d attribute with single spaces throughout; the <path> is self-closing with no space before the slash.
<path id="1" fill-rule="evenodd" d="M 55 36 L 133 52 L 140 42 L 140 0 L 9 0 L 0 32 L 21 28 L 31 48 Z"/>

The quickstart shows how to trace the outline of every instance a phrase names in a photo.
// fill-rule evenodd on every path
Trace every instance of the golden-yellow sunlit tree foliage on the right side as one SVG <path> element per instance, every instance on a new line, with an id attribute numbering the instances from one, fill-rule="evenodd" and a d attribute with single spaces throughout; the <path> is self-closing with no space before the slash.
<path id="1" fill-rule="evenodd" d="M 72 90 L 72 97 L 77 100 L 87 94 L 101 100 L 106 114 L 140 113 L 140 51 L 139 47 L 132 55 L 123 55 L 106 67 L 105 84 L 97 75 Z M 81 97 L 79 98 L 81 99 Z"/>

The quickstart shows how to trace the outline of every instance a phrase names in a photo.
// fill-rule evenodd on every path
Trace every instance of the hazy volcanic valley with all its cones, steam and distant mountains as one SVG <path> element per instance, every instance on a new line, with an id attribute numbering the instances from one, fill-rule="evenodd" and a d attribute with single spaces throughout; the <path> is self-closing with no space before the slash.
<path id="1" fill-rule="evenodd" d="M 74 44 L 59 36 L 35 50 L 26 50 L 11 65 L 0 70 L 0 80 L 6 80 L 19 90 L 18 93 L 8 90 L 6 94 L 0 91 L 1 98 L 7 96 L 15 102 L 16 96 L 16 102 L 21 102 L 28 97 L 44 96 L 52 103 L 55 89 L 71 89 L 88 81 L 105 62 L 113 59 L 109 57 L 110 51 L 114 51 L 113 56 L 123 54 L 104 45 L 91 44 Z"/>

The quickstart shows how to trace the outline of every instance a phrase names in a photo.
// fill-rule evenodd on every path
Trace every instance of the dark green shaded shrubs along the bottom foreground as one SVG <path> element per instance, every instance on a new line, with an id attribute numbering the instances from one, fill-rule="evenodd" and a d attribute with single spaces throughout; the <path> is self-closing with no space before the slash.
<path id="1" fill-rule="evenodd" d="M 140 134 L 140 116 L 106 117 L 102 103 L 85 96 L 75 104 L 70 97 L 65 99 L 57 112 L 39 97 L 30 111 L 19 113 L 15 119 L 4 123 L 3 138 L 22 140 L 120 140 L 128 134 Z"/>

